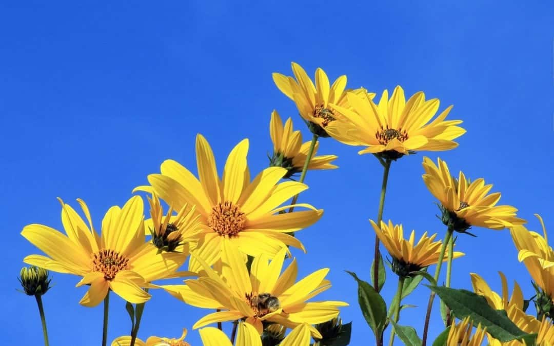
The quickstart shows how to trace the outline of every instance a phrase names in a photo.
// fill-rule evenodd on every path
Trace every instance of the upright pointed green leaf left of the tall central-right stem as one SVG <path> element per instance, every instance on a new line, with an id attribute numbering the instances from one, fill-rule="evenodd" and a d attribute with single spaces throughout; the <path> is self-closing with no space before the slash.
<path id="1" fill-rule="evenodd" d="M 360 280 L 353 272 L 346 272 L 358 282 L 358 303 L 363 317 L 366 318 L 367 324 L 370 325 L 376 338 L 381 338 L 387 322 L 387 304 L 369 283 Z"/>

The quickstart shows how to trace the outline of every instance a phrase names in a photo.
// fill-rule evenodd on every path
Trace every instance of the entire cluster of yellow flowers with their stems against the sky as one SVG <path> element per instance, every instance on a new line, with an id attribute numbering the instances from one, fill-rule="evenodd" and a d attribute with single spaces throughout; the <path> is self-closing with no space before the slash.
<path id="1" fill-rule="evenodd" d="M 414 152 L 445 151 L 458 146 L 454 140 L 465 130 L 458 126 L 461 120 L 446 120 L 452 106 L 435 116 L 439 100 L 425 100 L 423 92 L 406 100 L 404 91 L 397 86 L 391 97 L 385 90 L 377 102 L 374 100 L 376 94 L 366 89 L 346 89 L 346 76 L 340 76 L 331 85 L 324 71 L 317 69 L 314 85 L 300 65 L 293 63 L 292 68 L 294 78 L 275 73 L 273 79 L 279 90 L 295 102 L 312 133 L 311 141 L 302 143 L 301 132 L 294 130 L 291 118 L 283 125 L 279 114 L 273 111 L 270 119 L 273 156 L 269 167 L 252 179 L 247 163 L 248 139 L 232 149 L 220 176 L 211 146 L 206 138 L 197 135 L 198 177 L 168 159 L 161 164 L 160 173 L 148 175 L 148 185 L 133 190 L 133 193 L 147 194 L 150 212 L 146 217 L 143 200 L 135 195 L 121 208 L 112 206 L 101 225 L 95 228 L 83 200 L 77 202 L 84 218 L 60 200 L 65 234 L 45 225 L 25 226 L 22 235 L 45 255 L 29 255 L 24 262 L 42 270 L 82 277 L 76 286 L 90 286 L 80 301 L 84 306 L 94 307 L 104 301 L 107 309 L 110 291 L 125 299 L 128 309 L 136 314 L 131 316 L 130 335 L 116 338 L 112 342 L 114 346 L 188 345 L 184 341 L 186 329 L 179 339 L 150 337 L 143 342 L 137 338 L 143 304 L 152 292 L 160 290 L 191 306 L 215 311 L 192 326 L 200 328 L 204 345 L 261 346 L 262 334 L 273 335 L 274 345 L 306 346 L 312 338 L 319 344 L 318 340 L 327 335 L 323 335 L 318 325 L 337 326 L 339 308 L 347 304 L 311 301 L 331 287 L 325 278 L 329 268 L 297 280 L 297 261 L 289 247 L 305 251 L 295 233 L 316 223 L 323 214 L 323 210 L 311 204 L 297 203 L 297 198 L 308 188 L 304 183 L 307 171 L 337 168 L 333 164 L 336 156 L 316 156 L 319 138 L 332 137 L 350 146 L 365 147 L 359 153 L 373 154 L 383 166 L 378 216 L 375 221 L 370 220 L 376 233 L 373 282 L 372 285 L 365 283 L 365 288 L 358 292 L 360 296 L 373 294 L 371 292 L 378 295 L 381 290 L 384 277 L 379 277 L 379 272 L 384 268 L 379 244 L 382 243 L 392 257 L 391 267 L 398 275 L 399 291 L 386 323 L 376 323 L 376 314 L 371 314 L 373 322 L 366 317 L 377 345 L 383 344 L 383 330 L 388 325 L 394 326 L 391 327 L 391 345 L 395 332 L 400 334 L 396 331 L 399 328 L 396 323 L 408 280 L 430 277 L 425 270 L 437 265 L 434 281 L 429 279 L 436 284 L 441 265 L 448 262 L 446 286 L 449 287 L 452 260 L 464 255 L 453 251 L 453 233 L 469 234 L 471 226 L 511 230 L 520 251 L 519 260 L 524 262 L 536 283 L 535 304 L 540 315 L 535 318 L 525 313 L 525 304 L 529 302 L 524 300 L 517 284 L 512 296 L 508 296 L 506 278 L 502 274 L 502 296 L 499 296 L 481 277 L 472 273 L 475 293 L 484 296 L 494 309 L 505 310 L 523 332 L 536 333 L 537 344 L 554 344 L 554 328 L 550 321 L 554 314 L 554 252 L 547 244 L 546 230 L 542 237 L 525 229 L 522 226 L 525 220 L 516 216 L 517 209 L 497 205 L 500 193 L 490 193 L 492 185 L 486 185 L 484 179 L 470 182 L 462 172 L 454 178 L 440 158 L 435 164 L 424 157 L 423 180 L 439 200 L 441 218 L 447 226 L 444 241 L 435 240 L 437 234 L 426 232 L 416 242 L 414 231 L 405 239 L 402 225 L 382 220 L 392 162 Z M 166 211 L 161 201 L 167 204 Z M 181 271 L 187 260 L 187 270 Z M 290 262 L 283 270 L 285 261 Z M 34 278 L 29 287 L 42 285 L 43 293 L 48 290 L 45 280 L 37 284 L 36 277 L 27 276 Z M 183 285 L 155 283 L 183 277 L 187 277 Z M 419 344 L 425 345 L 427 341 L 433 297 L 434 293 L 429 299 L 423 340 Z M 360 304 L 365 313 L 367 307 Z M 455 309 L 448 311 L 446 324 L 450 327 L 445 344 L 480 345 L 485 335 L 491 345 L 500 344 L 489 333 L 493 331 L 481 326 L 479 321 L 465 317 L 454 323 L 455 314 Z M 233 322 L 230 338 L 220 328 L 220 323 L 229 321 Z M 216 323 L 219 328 L 208 327 Z M 475 323 L 478 326 L 471 335 Z M 106 328 L 104 325 L 103 345 L 106 345 Z M 285 333 L 287 328 L 291 329 L 288 334 Z M 399 337 L 402 339 L 401 335 Z M 513 340 L 509 344 L 522 343 Z M 321 343 L 324 344 L 333 345 Z"/>

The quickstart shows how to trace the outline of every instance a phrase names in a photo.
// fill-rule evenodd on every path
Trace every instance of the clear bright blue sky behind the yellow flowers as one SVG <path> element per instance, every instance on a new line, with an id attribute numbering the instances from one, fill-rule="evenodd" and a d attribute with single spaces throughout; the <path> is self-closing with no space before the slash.
<path id="1" fill-rule="evenodd" d="M 98 225 L 111 205 L 176 159 L 196 171 L 194 138 L 203 133 L 219 168 L 234 144 L 250 138 L 249 165 L 258 172 L 271 151 L 269 119 L 276 109 L 303 128 L 296 108 L 274 86 L 271 73 L 290 74 L 300 63 L 318 66 L 349 87 L 381 92 L 401 85 L 450 104 L 450 118 L 468 130 L 459 148 L 425 153 L 445 159 L 452 171 L 484 177 L 502 193 L 502 204 L 538 230 L 534 213 L 554 225 L 552 11 L 548 2 L 3 2 L 0 4 L 0 184 L 4 273 L 0 281 L 4 343 L 41 342 L 34 299 L 15 289 L 22 259 L 37 250 L 19 235 L 41 223 L 61 228 L 60 205 L 83 198 Z M 343 270 L 369 280 L 381 166 L 357 148 L 330 139 L 320 153 L 337 154 L 340 169 L 310 172 L 301 202 L 325 209 L 319 223 L 298 237 L 300 273 L 330 267 L 334 287 L 322 299 L 350 307 L 352 345 L 373 337 L 357 307 L 356 285 Z M 435 200 L 421 175 L 424 154 L 393 163 L 384 218 L 408 230 L 439 233 Z M 477 272 L 500 290 L 497 271 L 533 295 L 508 231 L 474 229 L 460 236 L 466 253 L 454 262 L 453 286 L 470 287 Z M 54 273 L 44 297 L 50 344 L 71 340 L 98 345 L 102 308 L 78 302 L 78 278 Z M 396 290 L 389 273 L 387 302 Z M 428 290 L 419 287 L 401 323 L 421 334 Z M 110 340 L 128 334 L 124 302 L 111 300 Z M 438 304 L 431 338 L 442 326 Z M 208 311 L 187 307 L 156 292 L 145 309 L 140 336 L 178 337 Z M 227 326 L 229 328 L 229 326 Z M 386 333 L 388 335 L 388 332 Z M 187 338 L 199 344 L 198 332 Z M 398 343 L 398 342 L 397 342 Z"/>

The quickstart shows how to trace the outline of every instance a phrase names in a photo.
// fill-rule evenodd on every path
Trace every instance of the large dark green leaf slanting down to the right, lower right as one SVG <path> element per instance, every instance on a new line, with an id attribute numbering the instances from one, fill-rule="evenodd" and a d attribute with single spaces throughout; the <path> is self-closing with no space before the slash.
<path id="1" fill-rule="evenodd" d="M 529 337 L 529 334 L 510 321 L 504 310 L 495 310 L 490 307 L 485 297 L 467 290 L 454 290 L 454 288 L 439 286 L 428 287 L 439 295 L 456 317 L 469 316 L 474 324 L 481 323 L 481 326 L 486 327 L 486 331 L 500 342 Z"/>

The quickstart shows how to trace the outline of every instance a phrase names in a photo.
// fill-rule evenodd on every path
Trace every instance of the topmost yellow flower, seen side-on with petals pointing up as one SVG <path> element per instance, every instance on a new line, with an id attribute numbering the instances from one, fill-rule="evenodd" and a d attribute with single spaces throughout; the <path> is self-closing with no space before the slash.
<path id="1" fill-rule="evenodd" d="M 280 73 L 273 74 L 275 85 L 293 100 L 300 116 L 307 122 L 310 131 L 319 137 L 329 137 L 327 125 L 335 121 L 331 105 L 346 106 L 346 76 L 342 75 L 330 85 L 329 78 L 321 68 L 315 71 L 315 86 L 299 64 L 292 63 L 296 78 Z"/>

